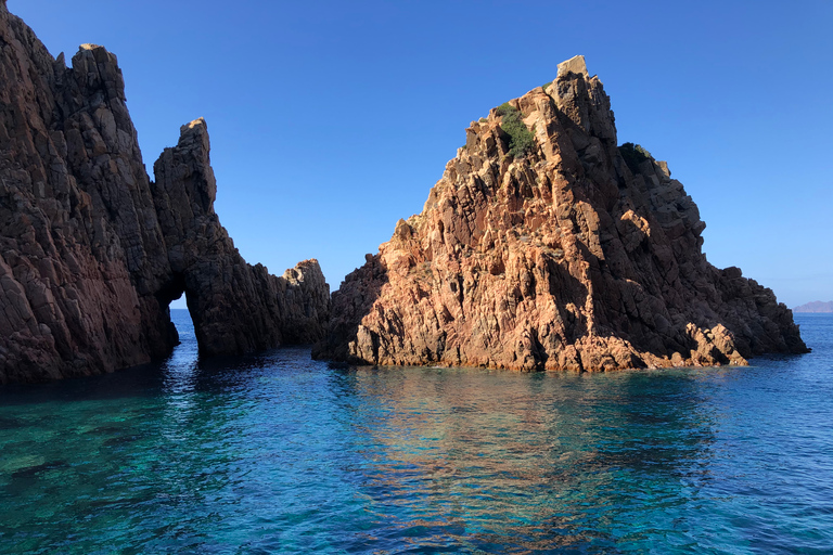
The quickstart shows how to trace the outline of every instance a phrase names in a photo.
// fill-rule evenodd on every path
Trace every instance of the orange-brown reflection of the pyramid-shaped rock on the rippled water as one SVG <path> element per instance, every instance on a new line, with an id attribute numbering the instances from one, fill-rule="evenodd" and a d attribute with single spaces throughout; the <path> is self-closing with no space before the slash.
<path id="1" fill-rule="evenodd" d="M 624 535 L 645 537 L 646 499 L 688 502 L 685 482 L 704 472 L 692 462 L 714 439 L 695 383 L 645 373 L 517 377 L 342 375 L 366 410 L 355 428 L 366 448 L 361 490 L 390 507 L 379 513 L 388 533 L 465 537 L 487 551 L 507 538 L 525 550 L 613 544 L 623 533 L 604 530 L 623 517 Z"/>

